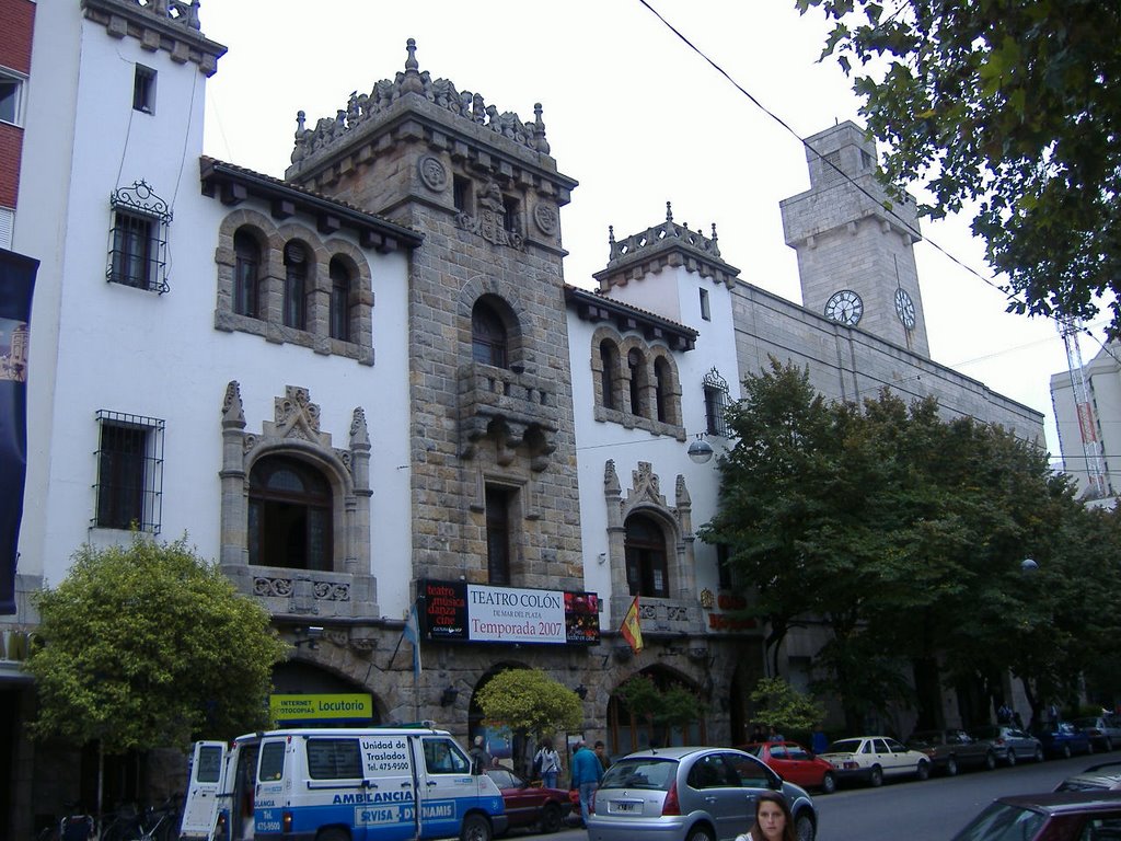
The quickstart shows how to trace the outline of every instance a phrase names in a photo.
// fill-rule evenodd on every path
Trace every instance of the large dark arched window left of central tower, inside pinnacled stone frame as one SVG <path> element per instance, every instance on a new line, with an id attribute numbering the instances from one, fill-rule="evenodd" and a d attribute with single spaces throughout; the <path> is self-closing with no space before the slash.
<path id="1" fill-rule="evenodd" d="M 306 462 L 260 459 L 249 473 L 249 563 L 332 569 L 332 493 Z"/>

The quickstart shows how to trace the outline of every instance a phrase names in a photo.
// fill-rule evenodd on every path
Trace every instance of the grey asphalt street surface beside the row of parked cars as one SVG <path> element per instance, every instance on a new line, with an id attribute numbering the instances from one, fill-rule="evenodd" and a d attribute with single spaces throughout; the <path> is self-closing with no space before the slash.
<path id="1" fill-rule="evenodd" d="M 963 771 L 956 777 L 935 775 L 925 783 L 887 783 L 880 788 L 846 786 L 836 794 L 817 795 L 821 819 L 817 841 L 948 841 L 982 807 L 1007 794 L 1049 792 L 1064 778 L 1097 763 L 1121 763 L 1112 754 L 1020 763 L 1015 768 Z M 743 831 L 747 832 L 744 826 Z M 511 837 L 516 833 L 511 832 Z M 519 838 L 527 838 L 518 833 Z M 544 841 L 546 837 L 539 837 Z M 562 830 L 555 841 L 586 841 L 584 830 Z"/>

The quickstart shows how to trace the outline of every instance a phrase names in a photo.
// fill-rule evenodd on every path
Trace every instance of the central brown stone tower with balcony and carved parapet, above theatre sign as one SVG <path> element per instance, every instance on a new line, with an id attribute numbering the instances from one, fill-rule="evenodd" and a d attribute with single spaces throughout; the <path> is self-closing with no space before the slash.
<path id="1" fill-rule="evenodd" d="M 580 589 L 559 224 L 576 182 L 539 104 L 522 121 L 420 72 L 413 39 L 407 53 L 334 118 L 311 128 L 300 112 L 286 177 L 424 235 L 408 292 L 411 575 Z"/>

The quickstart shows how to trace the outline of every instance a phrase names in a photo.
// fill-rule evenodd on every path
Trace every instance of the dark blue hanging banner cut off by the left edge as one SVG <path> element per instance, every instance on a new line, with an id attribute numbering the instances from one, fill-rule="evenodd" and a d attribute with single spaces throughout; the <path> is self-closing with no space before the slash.
<path id="1" fill-rule="evenodd" d="M 27 473 L 27 349 L 39 261 L 0 249 L 0 614 L 16 612 Z"/>

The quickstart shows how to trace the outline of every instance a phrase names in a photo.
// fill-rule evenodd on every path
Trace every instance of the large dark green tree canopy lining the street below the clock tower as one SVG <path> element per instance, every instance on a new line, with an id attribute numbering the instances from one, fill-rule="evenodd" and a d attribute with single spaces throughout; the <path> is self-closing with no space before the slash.
<path id="1" fill-rule="evenodd" d="M 985 720 L 1008 669 L 1038 711 L 1112 650 L 1119 516 L 1080 505 L 1034 442 L 944 419 L 933 399 L 828 403 L 776 360 L 728 420 L 720 510 L 700 534 L 729 546 L 771 674 L 789 628 L 828 629 L 815 686 L 850 727 L 899 702 L 939 727 L 946 685 Z"/>

